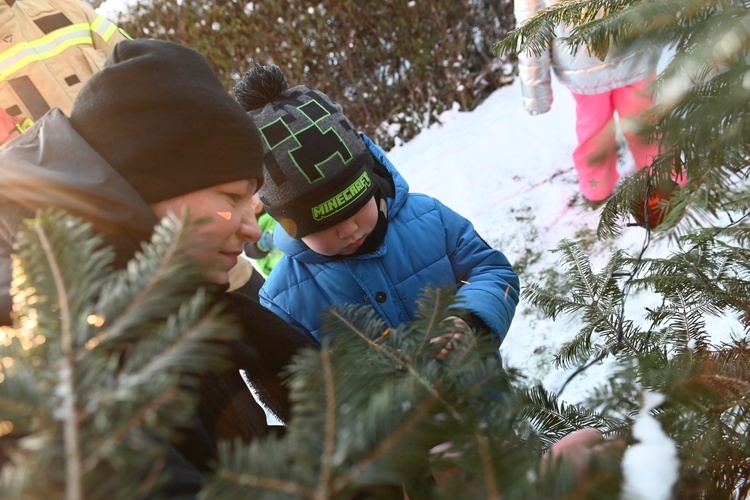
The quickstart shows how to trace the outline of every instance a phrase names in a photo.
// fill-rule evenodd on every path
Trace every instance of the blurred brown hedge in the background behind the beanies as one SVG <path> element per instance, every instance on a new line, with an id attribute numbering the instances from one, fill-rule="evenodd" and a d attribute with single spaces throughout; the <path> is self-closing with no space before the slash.
<path id="1" fill-rule="evenodd" d="M 513 28 L 511 0 L 154 0 L 113 21 L 202 52 L 228 90 L 251 61 L 277 64 L 386 149 L 512 81 L 509 58 L 492 50 Z"/>

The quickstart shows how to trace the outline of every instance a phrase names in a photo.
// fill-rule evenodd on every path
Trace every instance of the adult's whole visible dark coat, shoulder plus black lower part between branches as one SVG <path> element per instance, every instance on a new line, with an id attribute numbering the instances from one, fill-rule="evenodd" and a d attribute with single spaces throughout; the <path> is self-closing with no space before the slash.
<path id="1" fill-rule="evenodd" d="M 39 207 L 58 207 L 94 224 L 117 263 L 127 262 L 150 237 L 157 220 L 148 205 L 71 127 L 52 110 L 34 127 L 0 151 L 1 324 L 9 324 L 10 253 L 18 224 Z M 210 469 L 219 440 L 249 442 L 272 429 L 240 370 L 280 419 L 289 415 L 286 388 L 279 373 L 298 349 L 316 344 L 243 294 L 220 294 L 239 316 L 243 337 L 229 349 L 231 367 L 205 377 L 195 428 L 171 460 L 175 481 L 169 495 L 194 494 Z M 197 473 L 200 471 L 200 473 Z"/>

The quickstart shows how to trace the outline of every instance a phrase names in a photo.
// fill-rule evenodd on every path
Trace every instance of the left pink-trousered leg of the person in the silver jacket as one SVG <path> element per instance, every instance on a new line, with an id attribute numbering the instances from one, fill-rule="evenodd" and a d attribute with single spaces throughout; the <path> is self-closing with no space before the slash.
<path id="1" fill-rule="evenodd" d="M 576 136 L 573 164 L 581 193 L 590 201 L 601 201 L 612 192 L 617 173 L 614 107 L 609 92 L 576 94 Z"/>

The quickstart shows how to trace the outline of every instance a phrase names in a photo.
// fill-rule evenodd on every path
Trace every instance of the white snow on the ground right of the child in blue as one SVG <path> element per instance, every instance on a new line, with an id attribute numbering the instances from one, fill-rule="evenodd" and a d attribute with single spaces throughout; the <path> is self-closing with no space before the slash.
<path id="1" fill-rule="evenodd" d="M 574 101 L 555 80 L 553 91 L 552 110 L 531 116 L 522 107 L 516 81 L 496 90 L 472 112 L 445 112 L 441 124 L 388 153 L 412 191 L 440 199 L 471 220 L 512 263 L 524 264 L 519 273 L 522 286 L 543 281 L 544 270 L 560 268 L 558 256 L 551 250 L 562 239 L 596 241 L 599 211 L 583 202 L 572 167 Z M 621 172 L 632 172 L 630 154 L 621 157 Z M 614 249 L 635 255 L 642 248 L 646 231 L 627 227 L 626 222 L 616 240 L 596 242 L 588 249 L 595 271 Z M 652 238 L 646 255 L 667 255 L 669 251 L 666 239 Z M 529 257 L 537 260 L 526 264 Z M 626 314 L 641 317 L 643 307 L 653 300 L 631 296 Z M 731 318 L 707 321 L 726 322 L 736 333 L 741 332 Z M 558 392 L 572 370 L 555 369 L 552 356 L 579 327 L 575 318 L 543 318 L 522 301 L 501 348 L 503 360 L 522 370 L 530 381 L 539 380 L 548 390 Z M 732 331 L 726 330 L 728 334 Z M 728 336 L 716 340 L 728 340 Z M 606 378 L 609 366 L 605 362 L 577 376 L 565 389 L 563 399 L 570 403 L 585 399 L 593 384 Z"/>

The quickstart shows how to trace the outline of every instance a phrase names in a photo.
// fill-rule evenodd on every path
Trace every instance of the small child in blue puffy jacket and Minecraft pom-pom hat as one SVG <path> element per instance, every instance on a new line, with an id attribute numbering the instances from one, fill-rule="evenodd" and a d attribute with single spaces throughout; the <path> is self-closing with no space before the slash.
<path id="1" fill-rule="evenodd" d="M 427 286 L 460 284 L 459 323 L 502 342 L 519 280 L 505 255 L 440 201 L 409 193 L 385 153 L 315 89 L 255 65 L 234 88 L 264 142 L 263 206 L 284 257 L 261 303 L 321 340 L 322 313 L 367 304 L 391 326 L 415 319 Z"/>

